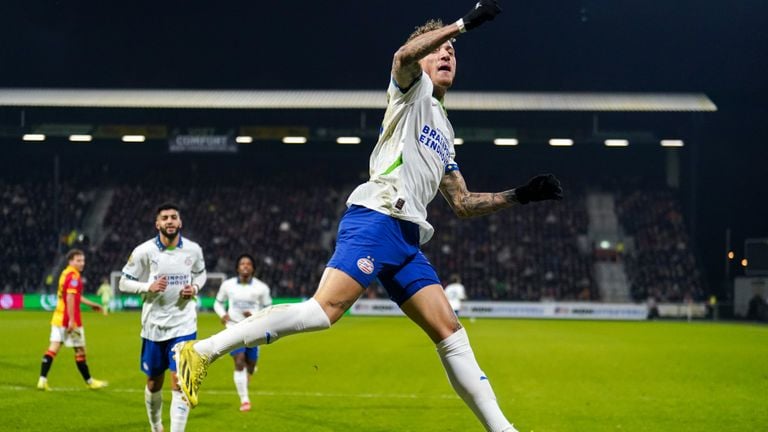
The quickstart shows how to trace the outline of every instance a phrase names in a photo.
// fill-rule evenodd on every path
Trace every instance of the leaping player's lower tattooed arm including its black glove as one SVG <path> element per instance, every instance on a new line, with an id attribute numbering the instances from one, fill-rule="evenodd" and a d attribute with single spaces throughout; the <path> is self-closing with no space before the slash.
<path id="1" fill-rule="evenodd" d="M 440 192 L 461 218 L 486 215 L 514 204 L 563 199 L 560 181 L 552 174 L 538 175 L 522 186 L 503 192 L 470 192 L 464 177 L 455 170 L 443 176 Z"/>

